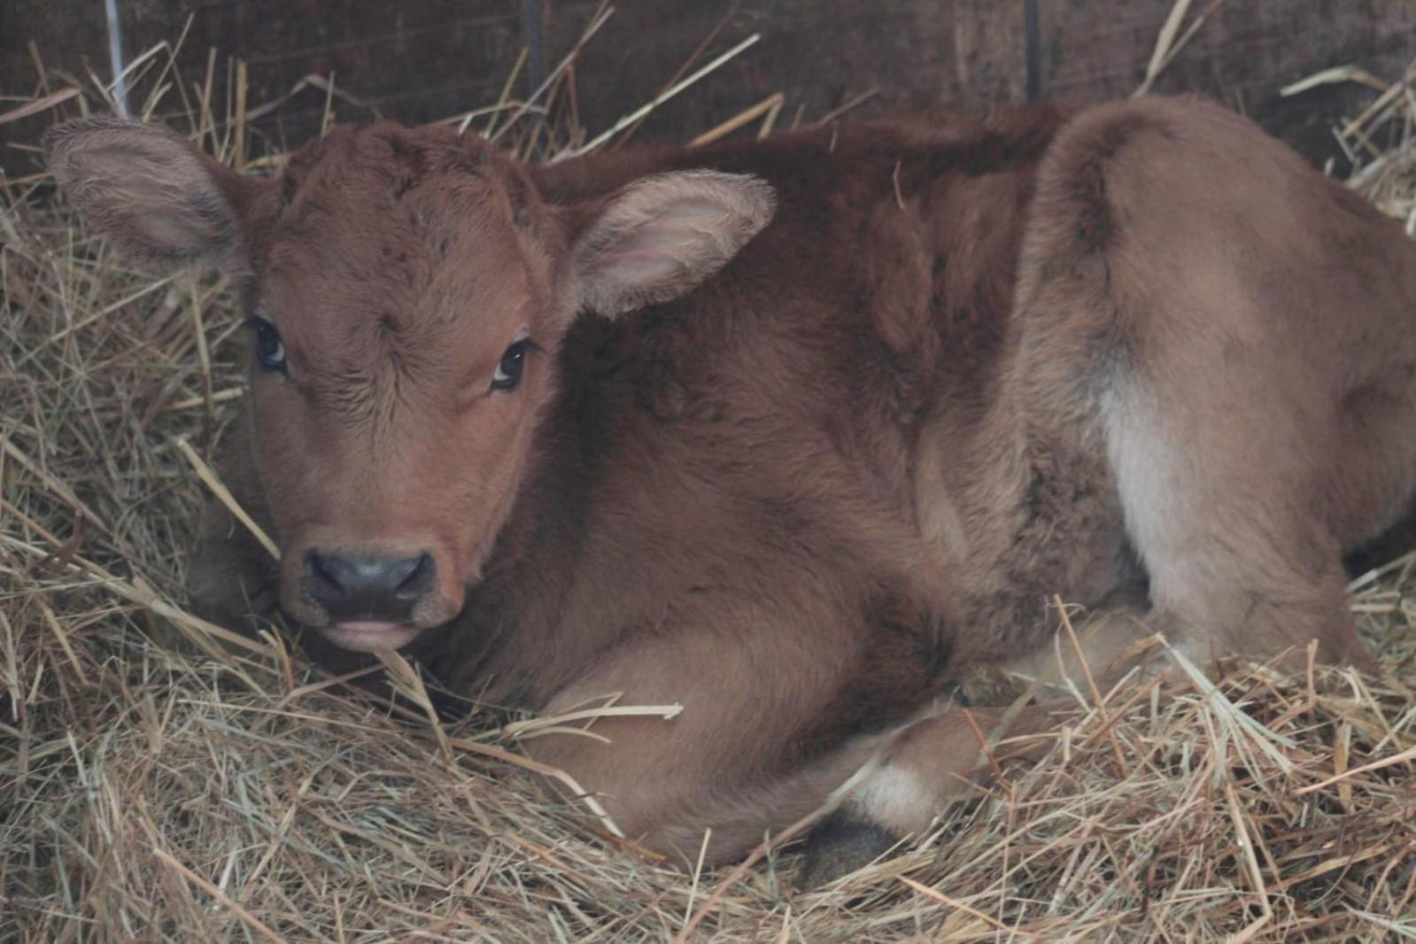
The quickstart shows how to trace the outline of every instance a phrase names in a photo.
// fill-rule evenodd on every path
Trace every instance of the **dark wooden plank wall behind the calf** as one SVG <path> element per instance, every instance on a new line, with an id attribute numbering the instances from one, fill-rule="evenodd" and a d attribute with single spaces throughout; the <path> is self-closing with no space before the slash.
<path id="1" fill-rule="evenodd" d="M 248 64 L 258 106 L 303 76 L 382 115 L 418 123 L 497 99 L 520 50 L 539 28 L 552 68 L 595 14 L 596 0 L 116 0 L 127 58 L 176 40 L 191 17 L 180 68 L 190 89 L 218 52 L 218 100 L 228 57 Z M 987 112 L 1037 98 L 1090 102 L 1130 93 L 1146 74 L 1174 0 L 617 0 L 575 68 L 582 123 L 592 132 L 649 100 L 718 28 L 700 62 L 752 33 L 762 41 L 660 108 L 639 140 L 685 137 L 780 92 L 779 127 L 875 95 L 852 117 L 946 106 Z M 1157 91 L 1198 91 L 1256 117 L 1314 161 L 1337 153 L 1330 129 L 1375 96 L 1328 85 L 1281 99 L 1318 69 L 1354 64 L 1400 78 L 1416 55 L 1416 0 L 1194 0 L 1206 23 L 1164 71 Z M 1029 42 L 1027 21 L 1035 21 Z M 531 23 L 531 18 L 539 23 Z M 105 0 L 0 0 L 0 112 L 40 89 L 110 75 Z M 1031 79 L 1029 79 L 1031 59 Z M 525 74 L 518 95 L 525 95 Z M 1031 88 L 1029 88 L 1031 86 Z M 69 109 L 72 110 L 72 102 Z M 278 146 L 319 127 L 324 93 L 306 89 L 253 123 Z M 336 102 L 341 120 L 370 112 Z M 0 125 L 10 174 L 34 171 L 33 143 L 55 113 Z M 259 147 L 261 144 L 256 144 Z"/>

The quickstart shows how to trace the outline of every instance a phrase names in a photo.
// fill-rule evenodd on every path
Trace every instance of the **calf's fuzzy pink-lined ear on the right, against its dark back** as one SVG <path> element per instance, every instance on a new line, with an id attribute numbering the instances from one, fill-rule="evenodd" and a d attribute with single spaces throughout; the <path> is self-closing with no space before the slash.
<path id="1" fill-rule="evenodd" d="M 575 241 L 581 304 L 615 316 L 677 299 L 722 269 L 775 208 L 756 177 L 692 170 L 636 181 Z"/>

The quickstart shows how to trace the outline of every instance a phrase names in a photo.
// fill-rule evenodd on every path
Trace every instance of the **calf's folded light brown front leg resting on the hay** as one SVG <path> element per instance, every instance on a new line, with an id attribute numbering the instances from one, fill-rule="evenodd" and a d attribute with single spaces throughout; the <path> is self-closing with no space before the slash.
<path id="1" fill-rule="evenodd" d="M 820 618 L 817 618 L 820 617 Z M 692 627 L 646 633 L 555 695 L 548 715 L 602 703 L 683 705 L 673 719 L 606 716 L 592 736 L 548 733 L 524 746 L 593 793 L 617 827 L 692 865 L 739 858 L 821 807 L 881 736 L 811 743 L 861 658 L 830 614 L 719 601 Z"/>

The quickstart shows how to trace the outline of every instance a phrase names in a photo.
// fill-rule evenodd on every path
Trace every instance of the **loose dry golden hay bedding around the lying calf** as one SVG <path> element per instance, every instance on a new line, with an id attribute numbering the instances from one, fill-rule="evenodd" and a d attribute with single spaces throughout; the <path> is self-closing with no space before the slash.
<path id="1" fill-rule="evenodd" d="M 239 150 L 214 110 L 193 126 Z M 1400 215 L 1410 154 L 1364 177 Z M 1354 592 L 1381 681 L 1080 685 L 1048 757 L 834 887 L 792 892 L 790 848 L 685 876 L 541 788 L 501 718 L 443 729 L 212 644 L 176 443 L 224 434 L 239 316 L 130 272 L 41 180 L 0 209 L 0 940 L 1416 938 L 1410 562 Z"/>

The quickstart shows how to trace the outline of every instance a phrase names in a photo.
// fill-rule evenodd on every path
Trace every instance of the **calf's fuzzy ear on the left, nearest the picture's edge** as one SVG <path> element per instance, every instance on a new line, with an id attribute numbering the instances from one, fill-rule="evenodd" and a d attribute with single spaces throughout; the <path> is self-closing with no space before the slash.
<path id="1" fill-rule="evenodd" d="M 50 129 L 44 157 L 88 224 L 140 263 L 234 262 L 245 180 L 176 132 L 84 117 Z"/>

